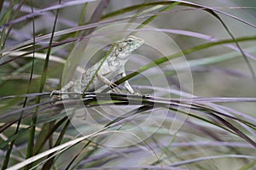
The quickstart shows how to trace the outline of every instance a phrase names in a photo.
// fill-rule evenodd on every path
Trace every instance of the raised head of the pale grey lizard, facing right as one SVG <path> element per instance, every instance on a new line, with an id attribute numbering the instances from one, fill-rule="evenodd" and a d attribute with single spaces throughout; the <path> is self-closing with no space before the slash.
<path id="1" fill-rule="evenodd" d="M 135 36 L 128 36 L 121 41 L 115 42 L 114 53 L 119 59 L 125 59 L 132 51 L 143 45 L 143 39 Z"/>

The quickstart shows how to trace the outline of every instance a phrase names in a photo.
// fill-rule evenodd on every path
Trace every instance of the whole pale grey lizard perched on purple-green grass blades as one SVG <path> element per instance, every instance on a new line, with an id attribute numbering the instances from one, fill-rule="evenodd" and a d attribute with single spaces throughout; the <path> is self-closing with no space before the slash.
<path id="1" fill-rule="evenodd" d="M 111 82 L 114 77 L 121 75 L 125 77 L 125 63 L 129 59 L 130 54 L 143 45 L 143 39 L 135 36 L 128 36 L 120 41 L 113 42 L 110 52 L 106 58 L 100 59 L 95 65 L 92 65 L 88 70 L 75 81 L 68 82 L 61 90 L 54 90 L 49 95 L 51 99 L 62 99 L 62 92 L 74 92 L 84 94 L 84 92 L 91 92 L 97 88 L 107 84 L 112 88 L 113 92 L 121 94 L 116 84 Z M 125 81 L 125 88 L 130 94 L 137 94 L 131 88 L 128 81 Z M 63 99 L 68 95 L 64 94 Z"/>

